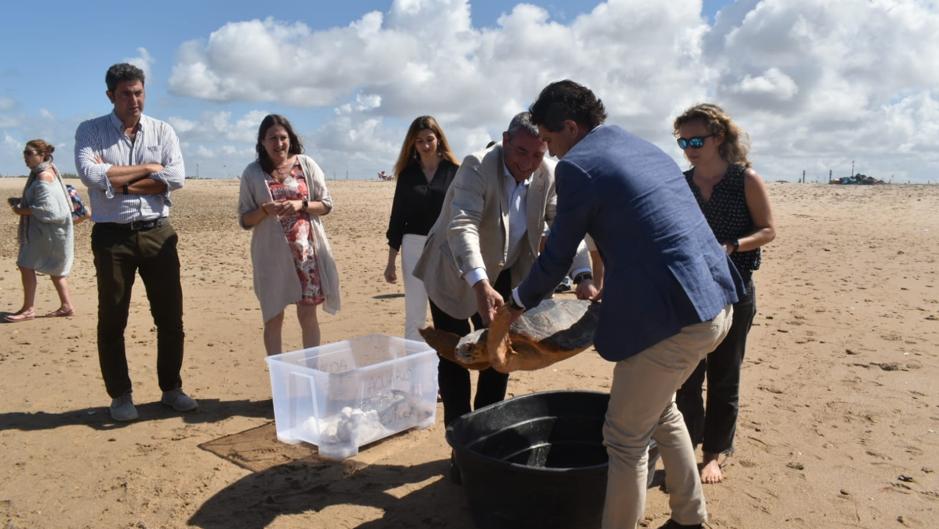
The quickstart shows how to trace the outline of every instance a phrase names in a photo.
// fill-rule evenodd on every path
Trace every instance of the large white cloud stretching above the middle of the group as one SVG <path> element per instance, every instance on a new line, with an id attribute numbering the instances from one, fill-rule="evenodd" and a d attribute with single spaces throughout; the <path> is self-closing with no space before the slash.
<path id="1" fill-rule="evenodd" d="M 335 165 L 393 161 L 401 123 L 421 114 L 436 116 L 455 148 L 478 149 L 565 77 L 594 88 L 637 132 L 658 132 L 676 102 L 704 93 L 695 87 L 707 75 L 695 62 L 707 29 L 700 5 L 673 4 L 615 0 L 569 25 L 520 4 L 485 29 L 472 25 L 465 0 L 399 0 L 387 14 L 322 31 L 271 18 L 233 22 L 181 46 L 170 87 L 216 101 L 333 107 L 311 143 L 335 153 Z"/>

